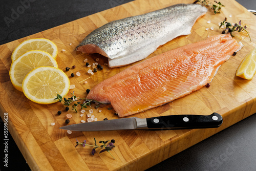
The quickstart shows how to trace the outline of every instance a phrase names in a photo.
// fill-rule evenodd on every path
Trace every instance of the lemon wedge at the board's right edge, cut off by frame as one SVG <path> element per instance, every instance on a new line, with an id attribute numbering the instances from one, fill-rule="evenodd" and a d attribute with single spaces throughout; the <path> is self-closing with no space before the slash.
<path id="1" fill-rule="evenodd" d="M 246 55 L 237 70 L 236 75 L 244 79 L 252 79 L 256 73 L 256 48 Z"/>

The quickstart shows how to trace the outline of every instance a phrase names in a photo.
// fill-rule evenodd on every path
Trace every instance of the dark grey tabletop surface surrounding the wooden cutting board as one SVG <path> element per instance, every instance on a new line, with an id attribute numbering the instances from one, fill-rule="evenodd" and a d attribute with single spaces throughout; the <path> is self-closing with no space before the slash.
<path id="1" fill-rule="evenodd" d="M 0 45 L 127 2 L 130 1 L 1 0 Z M 221 2 L 224 4 L 224 0 Z M 238 2 L 247 9 L 256 10 L 256 0 Z M 12 14 L 17 10 L 20 14 Z M 4 123 L 0 119 L 0 169 L 31 170 L 10 134 L 8 168 L 4 167 L 3 134 Z M 256 170 L 256 115 L 148 169 L 151 170 Z"/>

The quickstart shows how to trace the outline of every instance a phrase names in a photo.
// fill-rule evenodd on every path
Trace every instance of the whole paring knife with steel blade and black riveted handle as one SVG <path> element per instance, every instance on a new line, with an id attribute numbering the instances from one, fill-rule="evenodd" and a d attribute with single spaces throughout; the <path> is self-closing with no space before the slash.
<path id="1" fill-rule="evenodd" d="M 62 126 L 62 130 L 71 131 L 111 131 L 134 129 L 202 129 L 219 127 L 222 124 L 222 116 L 218 113 L 211 115 L 168 115 L 153 118 L 121 118 L 87 123 L 78 123 Z"/>

